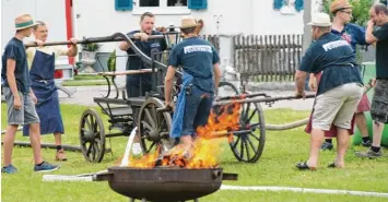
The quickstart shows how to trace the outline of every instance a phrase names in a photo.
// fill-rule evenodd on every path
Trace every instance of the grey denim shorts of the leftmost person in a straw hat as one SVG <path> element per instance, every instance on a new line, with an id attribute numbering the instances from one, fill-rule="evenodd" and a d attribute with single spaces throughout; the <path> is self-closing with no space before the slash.
<path id="1" fill-rule="evenodd" d="M 11 88 L 4 87 L 3 94 L 7 103 L 8 124 L 31 124 L 40 122 L 39 117 L 35 110 L 35 103 L 30 95 L 19 92 L 22 102 L 22 108 L 16 110 L 13 107 L 14 96 Z"/>

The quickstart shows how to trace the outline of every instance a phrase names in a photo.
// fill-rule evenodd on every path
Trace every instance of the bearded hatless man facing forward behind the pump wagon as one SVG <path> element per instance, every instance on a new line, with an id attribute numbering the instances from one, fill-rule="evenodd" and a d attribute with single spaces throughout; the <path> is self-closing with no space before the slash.
<path id="1" fill-rule="evenodd" d="M 162 35 L 162 33 L 154 31 L 154 25 L 155 16 L 151 12 L 145 12 L 140 16 L 140 29 L 128 33 L 129 36 L 133 35 L 137 39 L 140 39 L 134 41 L 134 44 L 143 54 L 149 57 L 151 57 L 151 52 L 161 52 L 167 48 L 165 39 L 149 40 L 150 35 Z M 130 44 L 124 41 L 119 45 L 119 48 L 124 51 L 127 51 L 128 54 L 127 70 L 140 70 L 145 68 L 140 57 L 134 55 L 134 51 L 131 49 Z M 146 92 L 151 91 L 151 73 L 127 75 L 127 96 L 144 96 Z M 137 111 L 133 112 L 134 115 L 137 115 Z M 139 135 L 137 135 L 134 139 L 134 144 L 132 146 L 133 154 L 141 153 L 141 146 L 139 141 Z"/>

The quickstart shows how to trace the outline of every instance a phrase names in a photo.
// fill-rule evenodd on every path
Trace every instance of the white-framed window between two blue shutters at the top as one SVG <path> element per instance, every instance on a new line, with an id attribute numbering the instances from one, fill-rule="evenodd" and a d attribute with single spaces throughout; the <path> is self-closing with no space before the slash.
<path id="1" fill-rule="evenodd" d="M 132 14 L 140 15 L 144 12 L 153 14 L 190 14 L 188 0 L 133 0 Z"/>

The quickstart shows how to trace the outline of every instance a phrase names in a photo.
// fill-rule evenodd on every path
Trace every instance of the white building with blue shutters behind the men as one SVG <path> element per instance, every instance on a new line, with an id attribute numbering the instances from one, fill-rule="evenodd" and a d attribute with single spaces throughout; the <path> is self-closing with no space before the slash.
<path id="1" fill-rule="evenodd" d="M 231 47 L 231 36 L 238 34 L 302 34 L 304 28 L 303 0 L 3 0 L 1 5 L 2 49 L 14 34 L 13 20 L 20 13 L 47 22 L 50 41 L 128 33 L 139 28 L 145 11 L 155 14 L 156 26 L 178 25 L 184 15 L 202 19 L 201 34 L 220 35 L 223 47 Z M 311 7 L 314 11 L 315 2 Z M 233 51 L 223 47 L 221 58 L 231 59 Z M 117 43 L 107 43 L 101 51 L 114 49 Z"/>

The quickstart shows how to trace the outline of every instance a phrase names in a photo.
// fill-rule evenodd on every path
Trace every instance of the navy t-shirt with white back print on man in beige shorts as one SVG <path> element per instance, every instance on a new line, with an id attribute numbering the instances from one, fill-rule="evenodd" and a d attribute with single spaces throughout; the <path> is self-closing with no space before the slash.
<path id="1" fill-rule="evenodd" d="M 346 83 L 363 83 L 353 48 L 331 33 L 310 45 L 302 58 L 299 70 L 322 72 L 317 95 Z"/>

